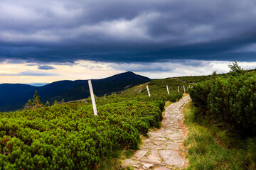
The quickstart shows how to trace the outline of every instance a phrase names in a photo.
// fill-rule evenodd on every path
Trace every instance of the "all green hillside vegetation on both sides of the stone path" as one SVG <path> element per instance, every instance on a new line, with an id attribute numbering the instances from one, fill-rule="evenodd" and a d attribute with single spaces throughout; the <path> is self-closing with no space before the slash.
<path id="1" fill-rule="evenodd" d="M 0 169 L 117 169 L 149 128 L 160 127 L 164 106 L 184 96 L 183 85 L 193 86 L 184 108 L 188 169 L 255 169 L 256 75 L 235 63 L 230 69 L 95 97 L 98 116 L 90 98 L 43 106 L 36 91 L 23 111 L 0 113 Z"/>

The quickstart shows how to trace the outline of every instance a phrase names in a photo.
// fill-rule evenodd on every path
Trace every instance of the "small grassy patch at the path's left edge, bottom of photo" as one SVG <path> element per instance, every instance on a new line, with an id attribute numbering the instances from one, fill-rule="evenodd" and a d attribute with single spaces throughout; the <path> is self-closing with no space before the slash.
<path id="1" fill-rule="evenodd" d="M 100 170 L 116 170 L 121 169 L 120 165 L 122 164 L 122 160 L 131 158 L 134 154 L 134 150 L 132 149 L 124 149 L 117 150 L 114 152 L 114 157 L 111 159 L 104 159 L 100 166 L 97 169 Z"/>

